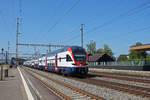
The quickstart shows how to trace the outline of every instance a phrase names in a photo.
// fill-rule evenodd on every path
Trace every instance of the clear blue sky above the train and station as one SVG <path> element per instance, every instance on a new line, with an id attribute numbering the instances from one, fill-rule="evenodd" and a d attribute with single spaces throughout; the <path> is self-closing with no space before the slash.
<path id="1" fill-rule="evenodd" d="M 16 20 L 19 43 L 81 45 L 91 40 L 107 44 L 115 56 L 128 54 L 136 42 L 150 43 L 149 0 L 1 0 L 0 48 L 15 52 Z M 46 52 L 47 48 L 19 46 L 19 52 Z"/>

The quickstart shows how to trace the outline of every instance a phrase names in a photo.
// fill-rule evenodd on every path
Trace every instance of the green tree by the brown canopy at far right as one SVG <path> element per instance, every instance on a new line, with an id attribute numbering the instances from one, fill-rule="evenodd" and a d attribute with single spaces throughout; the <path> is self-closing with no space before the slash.
<path id="1" fill-rule="evenodd" d="M 133 46 L 140 46 L 140 45 L 142 45 L 142 43 L 141 42 L 137 42 Z M 130 50 L 129 51 L 129 58 L 132 59 L 132 60 L 133 59 L 145 59 L 146 56 L 147 56 L 147 52 L 144 51 L 144 50 L 138 50 L 138 51 L 132 51 L 132 50 Z"/>

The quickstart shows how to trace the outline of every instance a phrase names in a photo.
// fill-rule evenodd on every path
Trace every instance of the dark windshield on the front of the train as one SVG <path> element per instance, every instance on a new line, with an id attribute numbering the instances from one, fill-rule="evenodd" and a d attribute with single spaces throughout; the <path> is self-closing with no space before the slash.
<path id="1" fill-rule="evenodd" d="M 75 61 L 85 61 L 86 60 L 86 53 L 83 48 L 81 48 L 81 47 L 73 48 L 72 52 L 74 54 Z"/>

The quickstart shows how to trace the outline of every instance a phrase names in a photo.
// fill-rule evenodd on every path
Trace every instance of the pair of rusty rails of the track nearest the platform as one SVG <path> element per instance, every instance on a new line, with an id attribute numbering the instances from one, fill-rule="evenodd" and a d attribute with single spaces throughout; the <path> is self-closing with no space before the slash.
<path id="1" fill-rule="evenodd" d="M 68 88 L 68 89 L 70 89 L 71 91 L 74 91 L 74 97 L 76 98 L 76 95 L 78 95 L 79 96 L 79 94 L 80 94 L 80 96 L 81 96 L 81 98 L 80 97 L 78 97 L 78 99 L 80 98 L 80 99 L 82 99 L 83 97 L 85 97 L 85 98 L 90 98 L 90 99 L 94 99 L 94 100 L 104 100 L 103 98 L 101 98 L 101 97 L 98 97 L 98 96 L 95 96 L 95 95 L 93 95 L 93 94 L 91 94 L 91 93 L 88 93 L 88 92 L 86 92 L 86 91 L 84 91 L 84 90 L 81 90 L 81 89 L 78 89 L 78 88 L 76 88 L 76 87 L 74 87 L 74 86 L 71 86 L 71 85 L 69 85 L 69 84 L 66 84 L 66 83 L 64 83 L 64 82 L 61 82 L 61 81 L 58 81 L 58 80 L 56 80 L 56 79 L 53 79 L 53 78 L 50 78 L 50 77 L 48 77 L 48 76 L 46 76 L 46 75 L 43 75 L 43 74 L 41 74 L 41 73 L 38 73 L 38 72 L 36 72 L 36 71 L 33 71 L 33 70 L 31 70 L 31 69 L 26 69 L 26 68 L 24 68 L 25 69 L 25 71 L 27 71 L 29 74 L 31 74 L 33 77 L 35 77 L 36 79 L 38 79 L 38 80 L 40 80 L 42 83 L 44 83 L 46 86 L 48 86 L 48 87 L 50 87 L 50 85 L 48 85 L 47 83 L 45 83 L 43 80 L 41 80 L 40 78 L 38 78 L 38 77 L 36 77 L 34 74 L 37 74 L 37 75 L 39 75 L 39 76 L 41 76 L 41 77 L 43 77 L 42 79 L 48 79 L 48 80 L 51 80 L 51 81 L 53 81 L 53 82 L 55 82 L 55 83 L 57 83 L 57 84 L 59 84 L 59 85 L 61 85 L 61 86 L 63 86 L 63 87 L 66 87 L 66 88 Z M 33 74 L 34 73 L 34 74 Z M 69 96 L 67 96 L 67 95 L 65 95 L 64 93 L 62 93 L 62 92 L 60 92 L 60 91 L 58 91 L 57 89 L 55 89 L 55 88 L 51 88 L 51 89 L 53 89 L 53 91 L 55 91 L 58 95 L 60 95 L 60 96 L 62 96 L 65 100 L 72 100 L 74 97 L 69 97 Z"/>

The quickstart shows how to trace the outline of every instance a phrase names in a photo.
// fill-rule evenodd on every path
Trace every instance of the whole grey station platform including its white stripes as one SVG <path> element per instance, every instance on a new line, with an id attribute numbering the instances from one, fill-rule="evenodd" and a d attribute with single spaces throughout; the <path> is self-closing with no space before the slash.
<path id="1" fill-rule="evenodd" d="M 0 100 L 61 100 L 55 93 L 21 67 L 9 68 L 0 80 Z"/>

